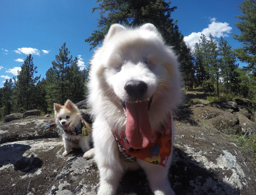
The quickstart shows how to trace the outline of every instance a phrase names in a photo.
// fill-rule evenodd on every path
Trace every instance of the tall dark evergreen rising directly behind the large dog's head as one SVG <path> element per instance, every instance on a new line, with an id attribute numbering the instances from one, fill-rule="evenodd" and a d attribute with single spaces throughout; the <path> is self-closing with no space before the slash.
<path id="1" fill-rule="evenodd" d="M 92 12 L 100 10 L 97 26 L 99 29 L 94 30 L 92 36 L 85 39 L 90 43 L 90 50 L 102 43 L 112 24 L 139 26 L 152 23 L 161 32 L 166 43 L 173 46 L 178 54 L 181 70 L 184 71 L 185 84 L 188 85 L 188 79 L 194 74 L 191 55 L 177 26 L 177 20 L 171 18 L 171 13 L 177 7 L 171 7 L 170 0 L 97 0 L 96 2 L 99 6 L 93 8 Z M 191 83 L 189 85 L 191 86 Z"/>

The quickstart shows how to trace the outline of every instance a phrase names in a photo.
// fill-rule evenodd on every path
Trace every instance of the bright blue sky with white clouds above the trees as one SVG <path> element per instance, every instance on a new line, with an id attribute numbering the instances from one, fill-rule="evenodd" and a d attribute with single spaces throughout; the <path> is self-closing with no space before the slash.
<path id="1" fill-rule="evenodd" d="M 203 32 L 217 40 L 224 36 L 237 48 L 240 43 L 232 33 L 239 34 L 234 25 L 238 4 L 239 0 L 172 0 L 178 8 L 171 16 L 191 47 Z M 29 53 L 45 78 L 64 42 L 81 68 L 86 66 L 93 51 L 84 40 L 97 29 L 99 14 L 91 13 L 95 6 L 95 0 L 0 0 L 0 86 L 17 75 Z"/>

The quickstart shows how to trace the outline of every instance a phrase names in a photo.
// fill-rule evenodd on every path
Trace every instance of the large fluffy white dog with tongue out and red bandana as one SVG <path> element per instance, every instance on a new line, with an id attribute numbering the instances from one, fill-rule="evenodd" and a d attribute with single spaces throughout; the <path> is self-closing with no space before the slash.
<path id="1" fill-rule="evenodd" d="M 155 195 L 174 195 L 168 171 L 175 131 L 171 112 L 181 98 L 180 73 L 174 52 L 156 27 L 112 25 L 92 58 L 88 87 L 100 170 L 98 195 L 114 195 L 124 170 L 139 167 Z M 167 147 L 161 148 L 160 142 Z M 145 150 L 145 156 L 140 154 Z M 161 156 L 164 152 L 167 155 Z"/>

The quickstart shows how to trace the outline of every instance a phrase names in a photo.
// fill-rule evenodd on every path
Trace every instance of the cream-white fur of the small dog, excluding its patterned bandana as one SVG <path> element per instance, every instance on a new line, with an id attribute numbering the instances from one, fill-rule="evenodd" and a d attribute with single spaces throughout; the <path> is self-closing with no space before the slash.
<path id="1" fill-rule="evenodd" d="M 65 149 L 65 151 L 63 152 L 63 156 L 68 155 L 71 152 L 72 148 L 81 148 L 83 152 L 85 152 L 85 154 L 83 155 L 84 158 L 92 158 L 94 156 L 94 149 L 90 149 L 89 147 L 89 142 L 91 139 L 90 130 L 88 130 L 88 136 L 70 135 L 63 130 L 62 122 L 65 122 L 65 124 L 70 123 L 69 128 L 72 128 L 72 126 L 75 127 L 77 124 L 80 123 L 80 118 L 82 116 L 79 109 L 70 100 L 67 100 L 64 106 L 54 104 L 54 110 L 57 127 L 62 129 L 63 131 L 63 134 L 61 135 Z M 66 118 L 67 116 L 70 116 L 70 118 Z M 69 140 L 78 140 L 78 144 L 71 143 Z"/>

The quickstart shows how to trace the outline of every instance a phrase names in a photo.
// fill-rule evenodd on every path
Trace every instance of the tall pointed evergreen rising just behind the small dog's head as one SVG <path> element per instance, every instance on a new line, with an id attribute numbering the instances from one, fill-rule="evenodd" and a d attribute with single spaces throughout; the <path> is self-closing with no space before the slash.
<path id="1" fill-rule="evenodd" d="M 64 104 L 69 97 L 69 81 L 68 81 L 68 66 L 72 61 L 69 55 L 66 43 L 64 43 L 59 49 L 59 54 L 55 56 L 56 61 L 52 62 L 52 67 L 46 72 L 46 101 L 48 104 L 48 110 L 53 110 L 53 104 Z"/>

